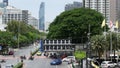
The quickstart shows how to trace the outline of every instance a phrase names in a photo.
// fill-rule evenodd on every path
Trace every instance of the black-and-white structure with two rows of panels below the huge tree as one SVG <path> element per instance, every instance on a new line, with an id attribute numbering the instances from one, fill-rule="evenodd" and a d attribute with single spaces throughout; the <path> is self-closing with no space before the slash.
<path id="1" fill-rule="evenodd" d="M 71 40 L 44 40 L 44 52 L 73 53 L 75 45 Z"/>

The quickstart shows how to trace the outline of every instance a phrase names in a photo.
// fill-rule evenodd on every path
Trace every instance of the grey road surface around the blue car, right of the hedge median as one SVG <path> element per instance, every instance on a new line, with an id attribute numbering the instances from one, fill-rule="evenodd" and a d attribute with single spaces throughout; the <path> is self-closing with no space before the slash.
<path id="1" fill-rule="evenodd" d="M 63 62 L 61 65 L 50 65 L 52 59 L 49 58 L 35 58 L 34 60 L 24 61 L 24 68 L 70 68 L 70 65 Z"/>

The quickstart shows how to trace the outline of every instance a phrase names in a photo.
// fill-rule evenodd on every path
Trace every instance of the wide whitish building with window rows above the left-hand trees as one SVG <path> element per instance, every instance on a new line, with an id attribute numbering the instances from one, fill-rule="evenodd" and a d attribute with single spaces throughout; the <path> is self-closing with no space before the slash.
<path id="1" fill-rule="evenodd" d="M 2 23 L 7 24 L 11 20 L 28 23 L 28 10 L 20 10 L 13 6 L 2 8 Z"/>

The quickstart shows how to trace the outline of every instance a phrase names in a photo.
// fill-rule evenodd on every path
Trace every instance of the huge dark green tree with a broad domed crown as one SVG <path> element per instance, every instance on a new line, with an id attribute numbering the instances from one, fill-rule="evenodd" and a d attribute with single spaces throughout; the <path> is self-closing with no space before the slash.
<path id="1" fill-rule="evenodd" d="M 81 37 L 86 37 L 89 32 L 88 25 L 91 36 L 102 34 L 103 19 L 101 13 L 88 8 L 65 11 L 50 24 L 47 38 L 81 40 Z M 87 37 L 84 40 L 87 40 Z"/>

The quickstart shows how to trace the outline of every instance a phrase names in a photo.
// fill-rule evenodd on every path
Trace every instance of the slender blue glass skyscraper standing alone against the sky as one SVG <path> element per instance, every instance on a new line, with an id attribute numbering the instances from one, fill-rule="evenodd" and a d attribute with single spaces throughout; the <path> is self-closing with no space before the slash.
<path id="1" fill-rule="evenodd" d="M 45 29 L 44 23 L 45 23 L 45 3 L 41 2 L 39 9 L 39 30 L 44 31 Z"/>

